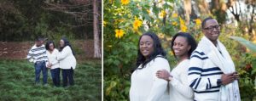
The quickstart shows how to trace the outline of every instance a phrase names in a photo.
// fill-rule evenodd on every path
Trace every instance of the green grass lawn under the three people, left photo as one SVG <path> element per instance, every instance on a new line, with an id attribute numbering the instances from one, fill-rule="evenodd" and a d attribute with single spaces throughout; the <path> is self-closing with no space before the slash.
<path id="1" fill-rule="evenodd" d="M 73 87 L 53 87 L 48 70 L 49 87 L 34 85 L 34 67 L 26 60 L 0 60 L 1 101 L 100 101 L 102 99 L 102 68 L 100 62 L 78 64 L 74 70 Z M 43 76 L 40 76 L 42 82 Z M 62 81 L 61 81 L 62 83 Z"/>

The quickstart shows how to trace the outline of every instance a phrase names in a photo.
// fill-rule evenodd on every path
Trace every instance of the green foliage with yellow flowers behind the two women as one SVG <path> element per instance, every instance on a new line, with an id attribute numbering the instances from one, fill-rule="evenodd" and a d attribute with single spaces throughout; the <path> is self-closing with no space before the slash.
<path id="1" fill-rule="evenodd" d="M 174 10 L 176 4 L 179 2 L 172 0 L 104 0 L 104 100 L 129 99 L 138 38 L 144 32 L 153 31 L 160 37 L 172 65 L 176 63 L 170 51 L 172 35 L 190 31 L 198 36 L 201 20 L 192 20 L 187 25 Z"/>

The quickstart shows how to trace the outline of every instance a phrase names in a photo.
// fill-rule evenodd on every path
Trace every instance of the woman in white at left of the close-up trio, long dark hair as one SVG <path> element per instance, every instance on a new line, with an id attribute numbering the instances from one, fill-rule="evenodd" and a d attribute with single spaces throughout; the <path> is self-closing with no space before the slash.
<path id="1" fill-rule="evenodd" d="M 131 75 L 131 101 L 167 101 L 167 81 L 155 76 L 157 70 L 170 70 L 166 52 L 158 36 L 152 32 L 139 38 L 137 69 Z"/>

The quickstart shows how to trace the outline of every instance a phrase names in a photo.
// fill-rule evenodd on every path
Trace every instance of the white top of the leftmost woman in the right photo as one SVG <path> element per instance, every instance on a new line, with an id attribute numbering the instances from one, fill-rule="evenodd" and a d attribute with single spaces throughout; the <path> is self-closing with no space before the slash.
<path id="1" fill-rule="evenodd" d="M 140 65 L 138 68 L 142 68 Z M 169 63 L 164 58 L 151 60 L 143 69 L 135 70 L 131 75 L 131 101 L 168 101 L 168 82 L 156 76 L 157 70 L 170 71 Z"/>

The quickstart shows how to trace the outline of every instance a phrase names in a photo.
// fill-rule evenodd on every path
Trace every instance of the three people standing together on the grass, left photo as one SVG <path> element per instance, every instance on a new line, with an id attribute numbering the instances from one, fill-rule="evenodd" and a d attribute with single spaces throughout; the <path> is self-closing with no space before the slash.
<path id="1" fill-rule="evenodd" d="M 63 87 L 74 84 L 73 70 L 76 67 L 73 48 L 66 38 L 61 38 L 60 49 L 49 41 L 44 46 L 44 38 L 38 38 L 35 45 L 29 50 L 26 59 L 34 63 L 35 84 L 40 82 L 40 73 L 43 72 L 43 85 L 47 86 L 48 69 L 55 87 L 61 86 L 60 72 L 62 72 Z"/>

